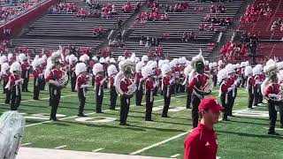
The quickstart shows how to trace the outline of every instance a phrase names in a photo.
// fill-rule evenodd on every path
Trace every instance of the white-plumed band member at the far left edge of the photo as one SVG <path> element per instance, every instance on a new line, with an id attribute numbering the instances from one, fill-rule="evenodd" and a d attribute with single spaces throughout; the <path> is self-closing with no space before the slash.
<path id="1" fill-rule="evenodd" d="M 5 103 L 9 104 L 11 99 L 11 91 L 8 88 L 5 88 L 9 82 L 11 73 L 9 72 L 10 65 L 8 63 L 1 64 L 1 79 L 3 80 L 3 90 L 6 94 Z"/>

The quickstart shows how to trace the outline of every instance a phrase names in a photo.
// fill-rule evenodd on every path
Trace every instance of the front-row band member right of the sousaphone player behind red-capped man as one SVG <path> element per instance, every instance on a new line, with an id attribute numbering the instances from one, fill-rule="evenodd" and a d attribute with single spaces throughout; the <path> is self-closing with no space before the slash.
<path id="1" fill-rule="evenodd" d="M 228 105 L 228 93 L 233 89 L 233 87 L 229 87 L 228 84 L 228 72 L 226 69 L 222 69 L 218 72 L 218 83 L 220 85 L 219 87 L 219 97 L 220 101 L 222 103 L 222 106 L 224 107 L 224 114 L 223 114 L 223 120 L 228 120 L 229 115 L 229 105 Z"/>

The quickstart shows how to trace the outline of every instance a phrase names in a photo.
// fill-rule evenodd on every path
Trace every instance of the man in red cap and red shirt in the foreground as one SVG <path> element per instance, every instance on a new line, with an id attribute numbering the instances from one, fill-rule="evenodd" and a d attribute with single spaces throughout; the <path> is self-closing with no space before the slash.
<path id="1" fill-rule="evenodd" d="M 216 159 L 218 152 L 217 135 L 213 125 L 218 123 L 220 111 L 224 108 L 213 98 L 205 98 L 198 110 L 202 113 L 202 120 L 184 143 L 184 159 Z"/>

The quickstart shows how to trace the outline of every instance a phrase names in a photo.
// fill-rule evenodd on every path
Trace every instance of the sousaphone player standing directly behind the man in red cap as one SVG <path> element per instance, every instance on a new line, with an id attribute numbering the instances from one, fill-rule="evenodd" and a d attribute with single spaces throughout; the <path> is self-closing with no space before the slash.
<path id="1" fill-rule="evenodd" d="M 193 118 L 193 127 L 195 128 L 198 125 L 198 106 L 201 103 L 204 95 L 209 95 L 211 90 L 208 92 L 203 91 L 203 89 L 210 79 L 209 75 L 204 73 L 205 65 L 204 59 L 202 55 L 202 51 L 200 49 L 200 54 L 192 59 L 192 66 L 195 69 L 195 75 L 190 80 L 188 85 L 188 91 L 192 95 L 192 118 Z"/>

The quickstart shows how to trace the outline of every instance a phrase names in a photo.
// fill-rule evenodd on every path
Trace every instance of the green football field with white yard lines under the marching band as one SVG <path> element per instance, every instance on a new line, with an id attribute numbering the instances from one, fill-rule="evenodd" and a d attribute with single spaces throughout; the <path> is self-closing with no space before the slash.
<path id="1" fill-rule="evenodd" d="M 33 91 L 32 86 L 30 83 L 30 91 Z M 218 87 L 212 95 L 218 96 Z M 119 98 L 117 110 L 109 110 L 107 89 L 104 90 L 103 114 L 94 111 L 96 100 L 92 87 L 87 96 L 85 114 L 88 117 L 77 117 L 77 93 L 71 92 L 69 86 L 63 89 L 57 111 L 60 121 L 50 122 L 48 87 L 41 92 L 40 101 L 32 100 L 32 92 L 22 93 L 19 112 L 26 117 L 23 147 L 182 158 L 183 141 L 192 128 L 186 94 L 172 95 L 168 118 L 161 117 L 164 101 L 162 96 L 156 96 L 153 122 L 144 120 L 145 107 L 135 106 L 133 97 L 127 119 L 130 126 L 119 125 Z M 279 117 L 277 132 L 281 136 L 268 135 L 266 104 L 249 110 L 247 102 L 248 92 L 240 88 L 233 108 L 236 117 L 216 125 L 218 156 L 226 159 L 283 158 L 283 129 L 279 128 Z M 1 95 L 0 103 L 0 112 L 10 110 L 10 105 L 4 104 L 4 95 Z"/>

